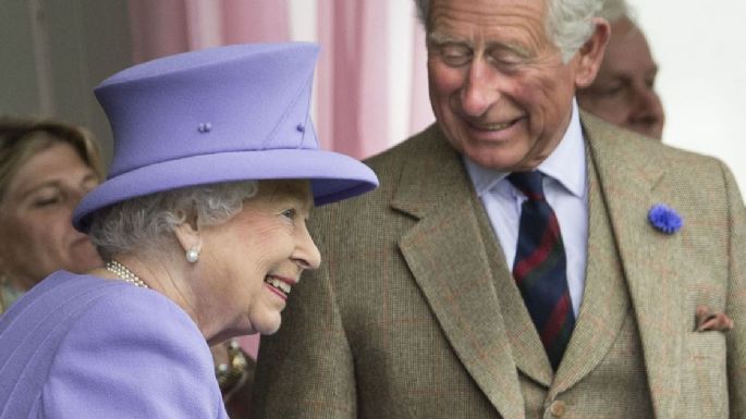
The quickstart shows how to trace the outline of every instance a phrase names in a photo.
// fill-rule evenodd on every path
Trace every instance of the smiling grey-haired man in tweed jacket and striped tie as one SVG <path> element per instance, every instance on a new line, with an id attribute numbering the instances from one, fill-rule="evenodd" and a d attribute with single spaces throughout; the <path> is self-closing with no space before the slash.
<path id="1" fill-rule="evenodd" d="M 719 161 L 577 111 L 599 2 L 418 5 L 438 121 L 315 213 L 252 417 L 745 417 L 743 201 Z"/>

